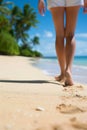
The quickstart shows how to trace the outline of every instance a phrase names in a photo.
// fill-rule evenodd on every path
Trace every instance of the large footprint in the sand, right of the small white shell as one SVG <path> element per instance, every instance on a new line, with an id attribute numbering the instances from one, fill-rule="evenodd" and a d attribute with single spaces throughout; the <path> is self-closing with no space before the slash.
<path id="1" fill-rule="evenodd" d="M 73 106 L 71 104 L 70 105 L 60 104 L 59 106 L 56 107 L 56 109 L 58 109 L 61 113 L 64 113 L 64 114 L 85 112 L 85 110 L 83 110 L 77 106 Z"/>

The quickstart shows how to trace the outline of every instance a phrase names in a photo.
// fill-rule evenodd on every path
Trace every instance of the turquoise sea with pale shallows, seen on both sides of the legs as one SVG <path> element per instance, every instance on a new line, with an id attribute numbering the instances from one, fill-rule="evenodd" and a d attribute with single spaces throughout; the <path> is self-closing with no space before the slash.
<path id="1" fill-rule="evenodd" d="M 33 62 L 33 65 L 43 70 L 50 76 L 60 74 L 60 69 L 56 57 L 38 58 Z M 72 66 L 73 80 L 77 83 L 87 85 L 87 56 L 75 56 Z"/>

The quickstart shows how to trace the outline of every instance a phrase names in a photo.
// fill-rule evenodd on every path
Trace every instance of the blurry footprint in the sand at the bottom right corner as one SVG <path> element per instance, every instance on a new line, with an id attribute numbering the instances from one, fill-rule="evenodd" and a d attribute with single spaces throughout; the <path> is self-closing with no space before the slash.
<path id="1" fill-rule="evenodd" d="M 78 121 L 76 118 L 71 118 L 71 125 L 74 128 L 81 129 L 81 130 L 87 130 L 87 122 L 83 123 L 82 121 Z"/>

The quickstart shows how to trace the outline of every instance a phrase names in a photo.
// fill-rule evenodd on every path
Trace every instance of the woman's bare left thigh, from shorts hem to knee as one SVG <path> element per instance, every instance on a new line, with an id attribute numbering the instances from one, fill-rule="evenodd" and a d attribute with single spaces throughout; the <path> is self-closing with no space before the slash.
<path id="1" fill-rule="evenodd" d="M 50 9 L 57 36 L 64 36 L 64 10 L 64 7 L 55 7 Z"/>

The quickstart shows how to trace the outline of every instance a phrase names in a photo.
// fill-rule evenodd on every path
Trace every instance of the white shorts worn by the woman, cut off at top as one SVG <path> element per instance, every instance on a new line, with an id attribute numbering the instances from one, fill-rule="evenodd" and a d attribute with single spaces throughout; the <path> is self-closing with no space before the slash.
<path id="1" fill-rule="evenodd" d="M 48 9 L 84 5 L 84 0 L 47 0 Z"/>

